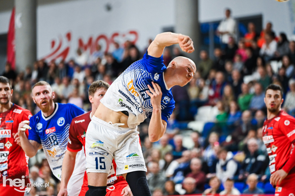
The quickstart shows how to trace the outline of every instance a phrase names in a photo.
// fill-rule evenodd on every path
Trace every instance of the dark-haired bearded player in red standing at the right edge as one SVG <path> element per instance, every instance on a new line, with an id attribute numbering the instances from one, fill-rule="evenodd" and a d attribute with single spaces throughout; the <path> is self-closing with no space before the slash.
<path id="1" fill-rule="evenodd" d="M 270 182 L 276 196 L 295 194 L 295 118 L 281 110 L 283 92 L 279 85 L 266 88 L 264 102 L 267 119 L 263 124 L 263 142 L 270 159 Z"/>

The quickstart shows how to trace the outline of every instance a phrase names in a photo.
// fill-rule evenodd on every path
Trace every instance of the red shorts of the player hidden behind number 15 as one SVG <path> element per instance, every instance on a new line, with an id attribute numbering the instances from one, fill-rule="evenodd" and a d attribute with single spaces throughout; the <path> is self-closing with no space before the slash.
<path id="1" fill-rule="evenodd" d="M 128 185 L 127 182 L 124 180 L 124 181 L 117 182 L 114 185 L 108 186 L 106 189 L 106 196 L 121 195 L 123 188 L 126 187 L 127 185 Z M 88 179 L 87 179 L 87 174 L 85 172 L 83 185 L 82 185 L 79 196 L 85 196 L 87 191 L 88 191 Z"/>

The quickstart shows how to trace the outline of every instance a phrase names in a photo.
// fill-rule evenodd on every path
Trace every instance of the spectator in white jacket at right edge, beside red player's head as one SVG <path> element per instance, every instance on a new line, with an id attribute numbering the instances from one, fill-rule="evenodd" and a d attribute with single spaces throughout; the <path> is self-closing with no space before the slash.
<path id="1" fill-rule="evenodd" d="M 288 112 L 288 114 L 295 116 L 295 80 L 289 80 L 289 88 L 290 90 L 287 92 L 283 110 Z"/>

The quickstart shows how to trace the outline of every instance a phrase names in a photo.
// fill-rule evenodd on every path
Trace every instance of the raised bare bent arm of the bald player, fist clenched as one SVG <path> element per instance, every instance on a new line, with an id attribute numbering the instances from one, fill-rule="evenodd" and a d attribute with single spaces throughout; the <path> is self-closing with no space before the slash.
<path id="1" fill-rule="evenodd" d="M 183 52 L 194 52 L 194 45 L 191 38 L 187 35 L 165 32 L 158 34 L 148 47 L 148 55 L 161 57 L 164 48 L 173 44 L 179 44 Z"/>

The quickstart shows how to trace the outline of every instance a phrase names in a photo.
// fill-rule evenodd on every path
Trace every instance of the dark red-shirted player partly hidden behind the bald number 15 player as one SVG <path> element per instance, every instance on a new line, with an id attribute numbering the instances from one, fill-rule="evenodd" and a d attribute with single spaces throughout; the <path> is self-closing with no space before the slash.
<path id="1" fill-rule="evenodd" d="M 91 121 L 94 112 L 100 104 L 101 98 L 103 98 L 106 90 L 109 88 L 109 84 L 104 81 L 98 80 L 93 82 L 89 87 L 89 101 L 92 105 L 92 111 L 77 116 L 73 118 L 72 123 L 69 129 L 69 140 L 68 140 L 68 151 L 65 153 L 65 157 L 63 159 L 63 167 L 62 167 L 62 178 L 60 184 L 60 192 L 58 196 L 66 196 L 67 195 L 67 184 L 68 180 L 71 177 L 75 166 L 75 158 L 78 151 L 82 149 L 82 146 L 85 147 L 85 135 L 87 131 L 88 124 Z M 103 152 L 102 152 L 103 153 Z M 79 196 L 84 196 L 86 191 L 88 190 L 88 180 L 87 174 L 85 172 L 83 186 Z M 123 195 L 124 194 L 124 195 Z M 113 160 L 113 167 L 108 176 L 108 188 L 106 196 L 132 196 L 131 190 L 122 176 L 116 176 L 116 164 Z"/>

